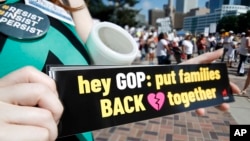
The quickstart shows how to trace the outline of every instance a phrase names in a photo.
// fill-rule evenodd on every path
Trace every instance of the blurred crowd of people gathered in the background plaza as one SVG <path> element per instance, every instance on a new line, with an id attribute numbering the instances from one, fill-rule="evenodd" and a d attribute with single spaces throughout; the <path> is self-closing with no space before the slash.
<path id="1" fill-rule="evenodd" d="M 185 35 L 158 33 L 156 30 L 134 34 L 135 39 L 138 37 L 136 41 L 140 60 L 148 60 L 150 65 L 179 64 L 194 56 L 223 49 L 220 60 L 217 61 L 225 62 L 229 68 L 237 68 L 237 76 L 247 74 L 242 95 L 246 94 L 250 84 L 250 71 L 247 71 L 245 66 L 249 61 L 249 36 L 249 30 L 242 33 L 234 33 L 232 30 L 221 31 L 216 34 L 209 33 L 207 36 L 204 34 L 195 36 L 190 33 Z M 154 59 L 156 59 L 155 62 Z"/>

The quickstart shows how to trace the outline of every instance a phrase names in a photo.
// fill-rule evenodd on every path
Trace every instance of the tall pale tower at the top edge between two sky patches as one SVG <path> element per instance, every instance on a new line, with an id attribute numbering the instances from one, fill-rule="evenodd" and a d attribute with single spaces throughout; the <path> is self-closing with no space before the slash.
<path id="1" fill-rule="evenodd" d="M 198 7 L 198 0 L 176 0 L 176 12 L 187 13 L 190 9 Z"/>

